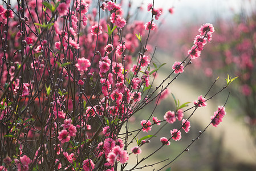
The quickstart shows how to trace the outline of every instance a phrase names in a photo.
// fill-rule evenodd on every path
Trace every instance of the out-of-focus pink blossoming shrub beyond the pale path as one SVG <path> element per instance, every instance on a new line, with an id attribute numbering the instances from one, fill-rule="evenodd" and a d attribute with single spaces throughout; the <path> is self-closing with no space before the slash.
<path id="1" fill-rule="evenodd" d="M 231 88 L 233 97 L 239 105 L 236 108 L 239 117 L 244 117 L 244 121 L 249 127 L 254 139 L 256 138 L 256 23 L 255 7 L 253 2 L 251 12 L 243 11 L 235 14 L 233 19 L 218 19 L 216 21 L 216 32 L 214 32 L 214 42 L 204 51 L 207 58 L 201 58 L 195 64 L 198 72 L 202 72 L 208 78 L 219 75 L 226 76 L 226 72 L 239 76 L 237 84 Z M 197 26 L 194 26 L 197 27 Z M 191 28 L 193 29 L 193 28 Z M 184 30 L 185 31 L 185 30 Z M 186 32 L 186 31 L 185 31 Z M 184 37 L 188 37 L 184 33 Z M 190 35 L 192 36 L 192 35 Z M 188 46 L 190 42 L 187 42 Z M 213 72 L 216 71 L 216 72 Z"/>

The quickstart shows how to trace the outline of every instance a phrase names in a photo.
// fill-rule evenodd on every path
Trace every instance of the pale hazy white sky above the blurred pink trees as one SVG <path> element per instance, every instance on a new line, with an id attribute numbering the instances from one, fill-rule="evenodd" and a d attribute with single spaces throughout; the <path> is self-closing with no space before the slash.
<path id="1" fill-rule="evenodd" d="M 146 9 L 152 0 L 133 0 L 133 5 L 140 6 L 141 2 Z M 155 6 L 163 7 L 165 13 L 174 7 L 174 14 L 166 17 L 166 22 L 181 26 L 188 22 L 213 22 L 216 17 L 231 18 L 242 10 L 250 13 L 256 3 L 255 0 L 155 0 Z"/>

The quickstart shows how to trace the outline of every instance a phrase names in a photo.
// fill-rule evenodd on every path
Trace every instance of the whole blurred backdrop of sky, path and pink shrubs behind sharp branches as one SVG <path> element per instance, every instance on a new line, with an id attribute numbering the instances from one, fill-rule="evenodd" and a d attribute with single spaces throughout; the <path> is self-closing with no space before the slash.
<path id="1" fill-rule="evenodd" d="M 152 1 L 132 1 L 133 7 L 144 11 L 139 16 L 145 21 L 150 19 L 146 12 L 148 3 Z M 180 141 L 171 141 L 170 146 L 165 146 L 149 160 L 155 163 L 175 158 L 198 135 L 198 131 L 210 123 L 210 116 L 218 105 L 225 103 L 230 92 L 223 122 L 217 128 L 209 127 L 200 140 L 190 146 L 189 152 L 182 154 L 170 167 L 171 170 L 256 170 L 256 1 L 158 0 L 155 7 L 162 8 L 162 15 L 159 21 L 154 21 L 159 28 L 150 39 L 152 48 L 157 46 L 154 62 L 166 63 L 157 73 L 159 83 L 172 71 L 174 61 L 187 56 L 202 24 L 212 23 L 215 28 L 212 42 L 206 44 L 200 59 L 193 60 L 193 64 L 169 87 L 181 103 L 204 96 L 218 77 L 209 96 L 226 85 L 227 74 L 239 78 L 226 91 L 208 101 L 207 107 L 197 110 L 190 119 L 188 134 L 182 132 Z M 173 14 L 169 13 L 170 8 L 173 8 Z M 157 106 L 153 116 L 163 120 L 165 112 L 174 109 L 173 97 L 169 95 Z M 153 107 L 148 107 L 143 113 L 148 115 L 152 110 Z M 184 113 L 184 118 L 189 115 L 189 111 Z M 145 119 L 143 115 L 136 118 L 142 119 Z M 169 136 L 170 129 L 180 127 L 179 124 L 169 124 L 162 129 L 151 145 L 142 147 L 143 153 L 153 152 L 147 146 L 159 146 L 160 137 Z M 156 127 L 159 126 L 155 125 L 150 134 L 153 135 Z M 161 168 L 161 165 L 164 164 L 156 168 Z M 146 169 L 152 170 L 150 167 Z"/>

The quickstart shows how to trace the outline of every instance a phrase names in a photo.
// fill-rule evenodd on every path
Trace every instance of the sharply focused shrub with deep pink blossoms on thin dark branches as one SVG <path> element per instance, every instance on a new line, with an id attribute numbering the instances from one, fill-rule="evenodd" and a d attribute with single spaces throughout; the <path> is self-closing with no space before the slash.
<path id="1" fill-rule="evenodd" d="M 137 123 L 140 129 L 129 128 L 129 119 L 152 101 L 157 105 L 164 99 L 169 84 L 200 57 L 212 40 L 214 27 L 209 23 L 200 27 L 188 56 L 175 62 L 155 87 L 153 80 L 163 64 L 152 63 L 155 52 L 147 48 L 149 35 L 156 30 L 153 21 L 162 13 L 154 2 L 147 6 L 151 20 L 145 24 L 128 24 L 129 15 L 125 18 L 121 6 L 112 1 L 3 2 L 1 170 L 125 170 L 129 157 L 143 155 L 141 146 L 157 136 L 141 137 L 141 131 L 149 133 L 176 119 L 181 122 L 180 128 L 158 138 L 157 152 L 171 139 L 180 140 L 182 129 L 188 133 L 189 118 L 213 97 L 199 96 L 184 110 L 188 103 L 180 104 L 173 95 L 176 109 L 167 111 L 164 120 L 152 113 Z M 188 111 L 191 115 L 184 119 Z M 209 125 L 217 127 L 225 114 L 219 107 Z M 137 156 L 131 170 L 152 155 Z"/>

